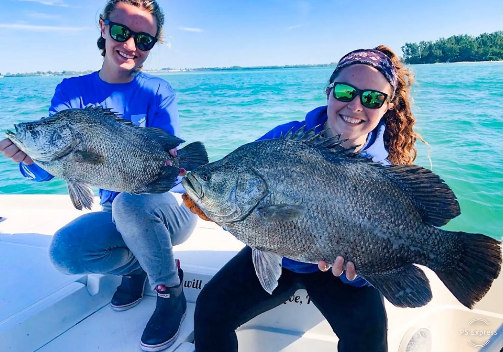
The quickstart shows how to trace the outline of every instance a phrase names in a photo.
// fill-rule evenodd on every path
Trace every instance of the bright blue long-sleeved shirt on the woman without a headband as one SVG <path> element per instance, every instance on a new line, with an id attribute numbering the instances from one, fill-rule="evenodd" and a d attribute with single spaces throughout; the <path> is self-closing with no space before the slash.
<path id="1" fill-rule="evenodd" d="M 123 119 L 141 127 L 158 127 L 180 136 L 176 94 L 164 79 L 139 72 L 128 83 L 107 83 L 98 71 L 64 78 L 56 86 L 49 116 L 65 109 L 83 109 L 89 105 L 112 109 Z M 24 177 L 34 181 L 49 181 L 54 176 L 37 164 L 19 164 Z M 184 193 L 181 178 L 172 192 Z M 112 202 L 119 192 L 100 189 L 100 204 Z"/>

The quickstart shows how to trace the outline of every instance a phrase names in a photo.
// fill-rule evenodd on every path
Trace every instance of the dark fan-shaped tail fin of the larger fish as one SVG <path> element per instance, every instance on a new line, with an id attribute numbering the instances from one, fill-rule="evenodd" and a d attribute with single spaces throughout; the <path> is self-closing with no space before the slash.
<path id="1" fill-rule="evenodd" d="M 480 301 L 501 271 L 501 242 L 479 233 L 449 231 L 457 247 L 455 260 L 435 273 L 464 306 Z"/>

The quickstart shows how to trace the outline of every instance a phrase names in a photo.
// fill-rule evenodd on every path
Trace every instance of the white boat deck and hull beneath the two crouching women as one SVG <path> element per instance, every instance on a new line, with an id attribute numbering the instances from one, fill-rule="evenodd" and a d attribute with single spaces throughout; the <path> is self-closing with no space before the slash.
<path id="1" fill-rule="evenodd" d="M 178 199 L 181 201 L 179 195 Z M 98 204 L 98 199 L 95 205 Z M 98 207 L 95 210 L 99 210 Z M 141 351 L 139 340 L 154 307 L 154 294 L 136 307 L 115 312 L 110 299 L 119 277 L 67 276 L 50 264 L 47 247 L 51 235 L 83 212 L 73 209 L 67 195 L 0 195 L 0 352 Z M 180 335 L 167 351 L 193 352 L 193 313 L 200 288 L 243 244 L 217 225 L 200 220 L 195 232 L 175 247 L 187 283 L 188 314 Z M 416 351 L 477 351 L 492 331 L 503 337 L 503 277 L 486 297 L 469 310 L 452 296 L 427 268 L 434 299 L 415 309 L 396 308 L 386 302 L 389 351 L 414 351 L 407 343 L 419 329 L 428 329 L 431 349 Z M 307 293 L 299 290 L 297 303 L 287 302 L 238 329 L 239 351 L 336 351 L 331 331 Z M 301 304 L 302 302 L 303 304 Z M 475 334 L 472 332 L 475 330 Z M 423 334 L 425 335 L 425 334 Z M 492 339 L 484 352 L 499 351 L 503 338 Z"/>

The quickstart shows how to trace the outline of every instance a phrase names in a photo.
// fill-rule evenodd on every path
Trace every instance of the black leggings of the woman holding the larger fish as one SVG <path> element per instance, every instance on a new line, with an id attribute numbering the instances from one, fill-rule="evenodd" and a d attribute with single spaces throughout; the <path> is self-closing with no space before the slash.
<path id="1" fill-rule="evenodd" d="M 194 315 L 196 351 L 236 352 L 238 326 L 286 302 L 302 288 L 339 337 L 338 352 L 388 350 L 387 317 L 379 291 L 344 284 L 331 271 L 297 274 L 283 269 L 270 295 L 255 274 L 251 249 L 244 247 L 199 294 Z"/>

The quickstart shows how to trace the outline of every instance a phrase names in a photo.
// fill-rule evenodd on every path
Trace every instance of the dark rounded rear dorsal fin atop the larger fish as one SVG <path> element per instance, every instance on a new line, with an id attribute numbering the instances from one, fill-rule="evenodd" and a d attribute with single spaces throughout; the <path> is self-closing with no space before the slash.
<path id="1" fill-rule="evenodd" d="M 417 165 L 381 166 L 410 197 L 424 222 L 444 226 L 461 214 L 456 195 L 437 174 Z"/>

